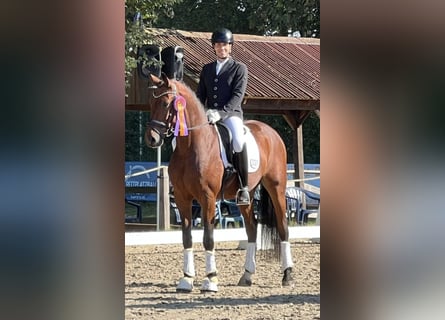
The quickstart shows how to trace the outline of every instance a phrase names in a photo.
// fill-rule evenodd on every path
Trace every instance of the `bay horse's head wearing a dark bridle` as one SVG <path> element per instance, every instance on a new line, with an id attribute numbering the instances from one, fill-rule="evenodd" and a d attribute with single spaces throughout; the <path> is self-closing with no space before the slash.
<path id="1" fill-rule="evenodd" d="M 164 138 L 172 134 L 175 121 L 173 101 L 176 97 L 176 85 L 165 74 L 159 79 L 154 75 L 149 78 L 150 121 L 145 131 L 145 143 L 151 148 L 162 146 Z"/>

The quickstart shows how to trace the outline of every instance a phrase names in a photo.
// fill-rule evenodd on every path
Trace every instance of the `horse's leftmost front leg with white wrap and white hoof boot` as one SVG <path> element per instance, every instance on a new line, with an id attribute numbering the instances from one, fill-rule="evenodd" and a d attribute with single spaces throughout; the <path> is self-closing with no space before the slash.
<path id="1" fill-rule="evenodd" d="M 190 207 L 190 215 L 182 217 L 182 244 L 184 246 L 184 276 L 179 279 L 177 292 L 191 292 L 193 290 L 193 280 L 195 278 L 195 263 L 193 256 L 192 241 L 192 214 Z"/>

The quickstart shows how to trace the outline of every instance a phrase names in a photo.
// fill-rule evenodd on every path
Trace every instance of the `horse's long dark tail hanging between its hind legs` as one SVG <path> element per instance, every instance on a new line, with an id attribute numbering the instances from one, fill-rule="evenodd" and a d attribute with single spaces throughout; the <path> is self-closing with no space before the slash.
<path id="1" fill-rule="evenodd" d="M 261 248 L 267 249 L 263 251 L 266 257 L 279 259 L 280 236 L 277 230 L 277 216 L 266 188 L 260 188 L 258 223 L 261 224 Z"/>

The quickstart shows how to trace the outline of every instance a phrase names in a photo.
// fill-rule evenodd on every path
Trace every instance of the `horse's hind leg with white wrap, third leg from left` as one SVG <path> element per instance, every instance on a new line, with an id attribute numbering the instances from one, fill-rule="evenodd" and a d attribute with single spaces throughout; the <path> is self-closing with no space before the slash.
<path id="1" fill-rule="evenodd" d="M 248 209 L 246 209 L 247 211 Z M 247 233 L 247 248 L 246 248 L 246 260 L 244 262 L 244 273 L 238 281 L 239 286 L 251 286 L 252 285 L 252 275 L 255 273 L 256 262 L 256 237 L 257 237 L 257 223 L 250 214 L 248 219 L 246 215 L 244 216 L 244 221 L 246 223 L 246 233 Z"/>

